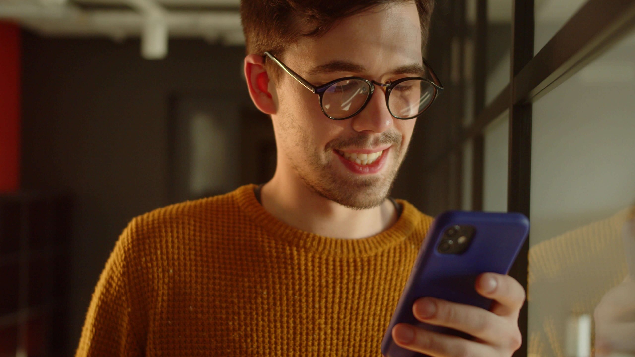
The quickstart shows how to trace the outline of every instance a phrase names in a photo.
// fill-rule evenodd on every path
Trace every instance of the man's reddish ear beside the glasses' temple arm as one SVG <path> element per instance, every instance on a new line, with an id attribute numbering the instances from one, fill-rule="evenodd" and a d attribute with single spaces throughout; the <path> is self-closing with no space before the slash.
<path id="1" fill-rule="evenodd" d="M 251 54 L 244 58 L 244 77 L 253 104 L 265 114 L 276 114 L 276 102 L 269 93 L 269 88 L 274 87 L 269 86 L 269 76 L 262 56 Z"/>

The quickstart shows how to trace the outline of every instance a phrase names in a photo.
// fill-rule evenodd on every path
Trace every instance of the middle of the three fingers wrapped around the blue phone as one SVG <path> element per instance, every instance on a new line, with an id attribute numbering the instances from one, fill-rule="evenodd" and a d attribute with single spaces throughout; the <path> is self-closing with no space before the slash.
<path id="1" fill-rule="evenodd" d="M 488 344 L 495 345 L 501 340 L 512 344 L 522 341 L 517 326 L 511 326 L 508 319 L 481 307 L 424 297 L 415 301 L 412 313 L 419 321 L 453 328 Z"/>

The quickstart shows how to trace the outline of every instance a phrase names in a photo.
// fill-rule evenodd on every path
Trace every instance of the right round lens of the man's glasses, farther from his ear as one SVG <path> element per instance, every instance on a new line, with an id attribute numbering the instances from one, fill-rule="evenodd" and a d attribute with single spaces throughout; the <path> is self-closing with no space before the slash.
<path id="1" fill-rule="evenodd" d="M 388 109 L 397 118 L 413 118 L 430 106 L 435 91 L 436 88 L 428 81 L 403 81 L 392 88 Z"/>

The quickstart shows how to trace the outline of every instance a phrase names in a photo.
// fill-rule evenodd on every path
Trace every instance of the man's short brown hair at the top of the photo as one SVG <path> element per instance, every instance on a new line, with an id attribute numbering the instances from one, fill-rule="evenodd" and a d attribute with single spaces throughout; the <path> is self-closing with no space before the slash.
<path id="1" fill-rule="evenodd" d="M 257 55 L 270 51 L 282 56 L 286 47 L 301 36 L 321 36 L 338 20 L 379 5 L 411 2 L 417 5 L 424 45 L 434 0 L 241 0 L 246 51 Z M 278 72 L 276 67 L 274 72 Z"/>

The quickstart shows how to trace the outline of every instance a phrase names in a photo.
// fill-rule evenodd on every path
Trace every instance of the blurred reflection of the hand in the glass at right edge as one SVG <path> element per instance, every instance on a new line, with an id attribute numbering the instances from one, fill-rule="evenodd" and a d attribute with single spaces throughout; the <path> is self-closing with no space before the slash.
<path id="1" fill-rule="evenodd" d="M 635 356 L 635 280 L 631 276 L 608 290 L 593 316 L 596 356 Z"/>

